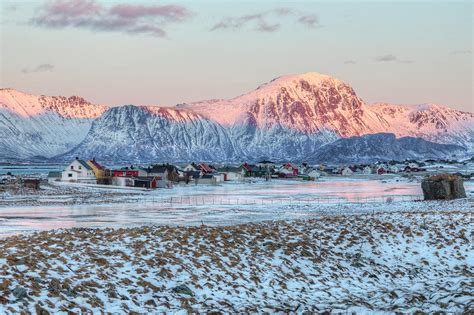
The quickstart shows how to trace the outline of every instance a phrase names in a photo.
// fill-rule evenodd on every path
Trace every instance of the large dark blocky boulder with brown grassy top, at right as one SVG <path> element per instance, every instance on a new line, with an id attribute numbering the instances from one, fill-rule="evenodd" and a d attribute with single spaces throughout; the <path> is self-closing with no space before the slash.
<path id="1" fill-rule="evenodd" d="M 425 178 L 421 188 L 425 200 L 466 198 L 463 180 L 457 175 L 441 174 Z"/>

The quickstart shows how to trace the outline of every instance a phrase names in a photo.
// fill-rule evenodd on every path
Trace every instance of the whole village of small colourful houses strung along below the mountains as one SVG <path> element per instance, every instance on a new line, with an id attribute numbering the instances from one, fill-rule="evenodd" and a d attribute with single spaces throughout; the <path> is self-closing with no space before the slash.
<path id="1" fill-rule="evenodd" d="M 373 164 L 353 164 L 347 166 L 309 165 L 308 163 L 274 163 L 263 160 L 255 164 L 212 165 L 207 163 L 189 163 L 186 165 L 150 164 L 130 165 L 109 168 L 95 158 L 83 160 L 77 157 L 62 172 L 49 172 L 47 181 L 109 185 L 116 187 L 136 187 L 145 189 L 172 188 L 176 184 L 218 185 L 225 182 L 245 181 L 252 178 L 264 180 L 301 180 L 315 181 L 325 176 L 357 176 L 357 175 L 390 175 L 402 176 L 426 175 L 433 173 L 456 173 L 465 179 L 473 176 L 470 165 L 473 159 L 457 161 L 391 161 Z M 4 174 L 0 183 L 7 183 L 16 177 Z M 40 180 L 32 176 L 23 178 L 25 185 L 32 188 L 39 185 Z"/>

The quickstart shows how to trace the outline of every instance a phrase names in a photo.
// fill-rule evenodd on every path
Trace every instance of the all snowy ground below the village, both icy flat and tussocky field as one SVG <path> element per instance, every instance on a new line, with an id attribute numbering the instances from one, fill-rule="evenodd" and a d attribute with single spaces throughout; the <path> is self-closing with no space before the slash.
<path id="1" fill-rule="evenodd" d="M 473 311 L 472 182 L 382 178 L 4 196 L 0 313 Z"/>

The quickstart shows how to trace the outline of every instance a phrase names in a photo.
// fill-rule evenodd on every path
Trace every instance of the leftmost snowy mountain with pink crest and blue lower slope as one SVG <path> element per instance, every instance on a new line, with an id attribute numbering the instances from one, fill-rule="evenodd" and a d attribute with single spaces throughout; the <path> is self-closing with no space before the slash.
<path id="1" fill-rule="evenodd" d="M 0 158 L 52 157 L 75 147 L 106 106 L 81 97 L 0 89 Z"/>

